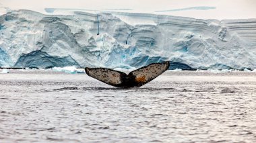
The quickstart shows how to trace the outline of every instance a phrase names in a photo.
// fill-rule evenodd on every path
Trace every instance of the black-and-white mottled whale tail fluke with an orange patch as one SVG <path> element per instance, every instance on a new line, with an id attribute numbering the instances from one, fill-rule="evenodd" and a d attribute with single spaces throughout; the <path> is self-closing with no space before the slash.
<path id="1" fill-rule="evenodd" d="M 86 74 L 98 81 L 119 88 L 141 87 L 152 81 L 166 70 L 170 62 L 153 63 L 131 71 L 128 75 L 109 68 L 88 68 Z"/>

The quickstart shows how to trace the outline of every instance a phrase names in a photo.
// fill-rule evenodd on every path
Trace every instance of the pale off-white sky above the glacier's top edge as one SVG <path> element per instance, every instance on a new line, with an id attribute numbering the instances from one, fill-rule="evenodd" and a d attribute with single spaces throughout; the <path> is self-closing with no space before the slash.
<path id="1" fill-rule="evenodd" d="M 154 13 L 201 19 L 256 18 L 256 0 L 0 0 L 0 3 L 0 7 L 30 9 L 41 13 L 46 13 L 44 8 L 65 8 Z"/>

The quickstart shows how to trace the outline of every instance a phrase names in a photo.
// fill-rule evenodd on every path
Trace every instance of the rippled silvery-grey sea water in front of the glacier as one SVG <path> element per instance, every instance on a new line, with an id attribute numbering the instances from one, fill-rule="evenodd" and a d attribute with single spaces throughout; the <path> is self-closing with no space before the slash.
<path id="1" fill-rule="evenodd" d="M 256 142 L 256 73 L 167 71 L 135 89 L 0 74 L 0 142 Z"/>

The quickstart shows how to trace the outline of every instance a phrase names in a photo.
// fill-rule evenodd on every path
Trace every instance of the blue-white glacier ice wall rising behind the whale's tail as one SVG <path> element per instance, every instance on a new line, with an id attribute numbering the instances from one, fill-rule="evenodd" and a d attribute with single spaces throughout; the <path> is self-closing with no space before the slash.
<path id="1" fill-rule="evenodd" d="M 256 19 L 203 20 L 139 13 L 0 16 L 0 66 L 255 69 Z"/>

